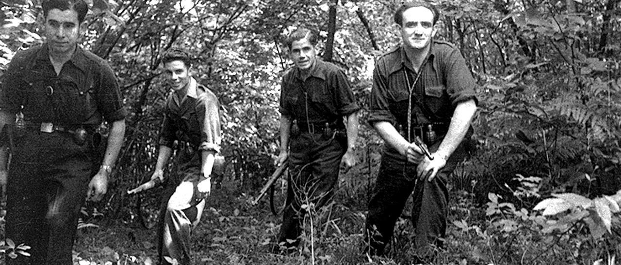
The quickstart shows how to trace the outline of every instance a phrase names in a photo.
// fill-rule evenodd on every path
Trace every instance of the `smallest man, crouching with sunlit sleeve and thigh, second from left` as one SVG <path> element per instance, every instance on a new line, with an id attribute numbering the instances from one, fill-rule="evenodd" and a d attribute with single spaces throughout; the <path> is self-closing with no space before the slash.
<path id="1" fill-rule="evenodd" d="M 191 228 L 201 220 L 205 198 L 211 192 L 215 155 L 220 152 L 220 103 L 211 90 L 191 76 L 188 53 L 168 51 L 163 59 L 166 84 L 173 90 L 166 99 L 160 131 L 160 150 L 152 180 L 164 180 L 164 168 L 176 143 L 176 172 L 165 183 L 158 227 L 160 264 L 165 257 L 191 264 Z"/>

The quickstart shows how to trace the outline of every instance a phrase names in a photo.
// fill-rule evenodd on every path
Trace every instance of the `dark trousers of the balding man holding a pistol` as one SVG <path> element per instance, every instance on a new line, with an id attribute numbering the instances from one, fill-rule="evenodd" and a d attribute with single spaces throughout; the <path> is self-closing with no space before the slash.
<path id="1" fill-rule="evenodd" d="M 434 144 L 430 150 L 437 150 L 439 145 L 440 142 Z M 430 257 L 435 248 L 442 246 L 448 211 L 446 181 L 464 156 L 463 146 L 460 145 L 433 181 L 415 181 L 417 165 L 404 163 L 386 154 L 382 156 L 366 218 L 365 238 L 369 243 L 370 254 L 384 254 L 384 248 L 391 240 L 394 225 L 410 194 L 414 196 L 412 225 L 417 255 L 420 258 Z"/>

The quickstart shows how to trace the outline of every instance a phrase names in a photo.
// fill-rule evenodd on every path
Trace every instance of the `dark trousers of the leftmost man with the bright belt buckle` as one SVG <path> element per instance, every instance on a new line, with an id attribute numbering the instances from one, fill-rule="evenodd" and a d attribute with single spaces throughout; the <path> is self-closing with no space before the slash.
<path id="1" fill-rule="evenodd" d="M 92 140 L 92 137 L 89 137 Z M 79 209 L 98 155 L 92 141 L 78 145 L 68 133 L 19 131 L 7 183 L 6 237 L 32 248 L 7 264 L 73 264 Z"/>

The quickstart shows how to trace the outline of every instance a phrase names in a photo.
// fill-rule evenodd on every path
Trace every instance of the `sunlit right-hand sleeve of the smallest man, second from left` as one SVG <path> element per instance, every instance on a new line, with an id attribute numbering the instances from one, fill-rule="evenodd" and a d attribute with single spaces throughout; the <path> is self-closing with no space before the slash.
<path id="1" fill-rule="evenodd" d="M 199 149 L 220 152 L 222 132 L 220 129 L 220 103 L 214 93 L 207 92 L 199 97 L 197 115 L 201 119 L 201 145 Z"/>

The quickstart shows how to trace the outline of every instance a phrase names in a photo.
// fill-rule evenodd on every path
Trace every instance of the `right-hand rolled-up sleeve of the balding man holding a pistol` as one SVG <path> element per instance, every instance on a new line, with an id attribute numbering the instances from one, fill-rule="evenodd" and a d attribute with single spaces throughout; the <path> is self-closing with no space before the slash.
<path id="1" fill-rule="evenodd" d="M 448 64 L 446 65 L 446 71 L 444 71 L 444 73 L 446 92 L 450 97 L 451 104 L 456 106 L 461 102 L 474 100 L 478 105 L 478 99 L 476 98 L 476 92 L 474 90 L 477 86 L 476 80 L 474 80 L 474 77 L 466 65 L 466 59 L 461 56 L 460 51 L 457 49 L 451 51 L 448 56 L 449 58 L 446 59 Z"/>

